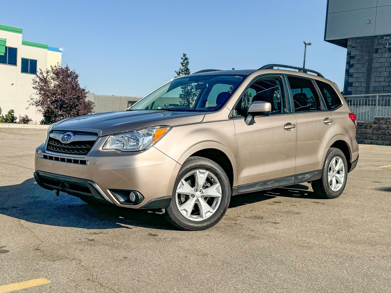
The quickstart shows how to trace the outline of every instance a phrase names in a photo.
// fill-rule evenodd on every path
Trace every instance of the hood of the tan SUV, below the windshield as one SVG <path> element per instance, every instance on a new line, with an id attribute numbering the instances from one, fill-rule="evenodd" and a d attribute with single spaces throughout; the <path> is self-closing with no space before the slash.
<path id="1" fill-rule="evenodd" d="M 72 130 L 83 128 L 86 131 L 98 130 L 99 136 L 106 136 L 126 130 L 156 125 L 177 126 L 199 123 L 204 119 L 204 116 L 205 112 L 120 111 L 69 118 L 57 123 L 53 129 Z"/>

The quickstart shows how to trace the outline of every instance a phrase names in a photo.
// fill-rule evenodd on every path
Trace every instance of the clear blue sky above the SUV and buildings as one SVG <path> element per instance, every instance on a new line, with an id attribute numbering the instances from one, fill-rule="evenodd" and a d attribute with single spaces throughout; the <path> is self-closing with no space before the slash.
<path id="1" fill-rule="evenodd" d="M 326 2 L 14 0 L 0 22 L 63 48 L 63 66 L 96 94 L 144 96 L 174 77 L 182 53 L 192 72 L 302 66 L 303 41 L 312 43 L 306 67 L 342 90 L 346 49 L 323 41 Z"/>

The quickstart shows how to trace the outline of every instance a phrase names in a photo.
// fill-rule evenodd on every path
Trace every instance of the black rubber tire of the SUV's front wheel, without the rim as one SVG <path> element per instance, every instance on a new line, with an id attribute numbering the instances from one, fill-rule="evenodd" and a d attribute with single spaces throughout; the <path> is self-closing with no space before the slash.
<path id="1" fill-rule="evenodd" d="M 217 180 L 219 180 L 221 185 L 221 202 L 217 207 L 217 210 L 205 220 L 192 221 L 183 216 L 176 205 L 176 188 L 179 184 L 179 181 L 187 173 L 192 172 L 202 168 L 208 172 L 211 172 Z M 172 225 L 178 227 L 181 230 L 195 231 L 195 230 L 205 230 L 216 223 L 218 223 L 221 218 L 226 213 L 228 206 L 230 205 L 231 200 L 231 187 L 230 181 L 224 170 L 215 162 L 204 157 L 189 157 L 185 163 L 183 163 L 181 169 L 179 170 L 178 176 L 175 180 L 174 189 L 172 191 L 172 200 L 170 206 L 166 209 L 165 217 Z"/>

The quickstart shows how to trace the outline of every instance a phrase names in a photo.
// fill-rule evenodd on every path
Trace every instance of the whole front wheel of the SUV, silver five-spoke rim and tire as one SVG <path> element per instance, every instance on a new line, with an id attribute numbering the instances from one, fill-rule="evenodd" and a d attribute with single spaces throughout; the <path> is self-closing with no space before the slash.
<path id="1" fill-rule="evenodd" d="M 179 171 L 167 219 L 184 230 L 203 230 L 222 218 L 231 198 L 224 170 L 203 157 L 190 157 Z"/>

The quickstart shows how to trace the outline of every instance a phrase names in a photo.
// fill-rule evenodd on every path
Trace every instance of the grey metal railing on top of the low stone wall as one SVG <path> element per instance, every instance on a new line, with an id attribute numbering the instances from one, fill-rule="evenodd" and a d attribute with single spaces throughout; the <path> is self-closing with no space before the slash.
<path id="1" fill-rule="evenodd" d="M 343 97 L 359 121 L 373 121 L 376 116 L 391 117 L 391 93 Z"/>

